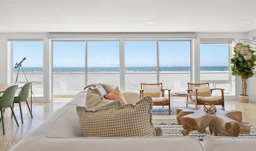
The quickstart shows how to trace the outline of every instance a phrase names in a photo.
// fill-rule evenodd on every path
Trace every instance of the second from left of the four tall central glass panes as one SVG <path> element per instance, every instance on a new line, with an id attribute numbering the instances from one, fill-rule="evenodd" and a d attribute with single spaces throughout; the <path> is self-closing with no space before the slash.
<path id="1" fill-rule="evenodd" d="M 119 41 L 87 41 L 87 84 L 119 86 Z"/>

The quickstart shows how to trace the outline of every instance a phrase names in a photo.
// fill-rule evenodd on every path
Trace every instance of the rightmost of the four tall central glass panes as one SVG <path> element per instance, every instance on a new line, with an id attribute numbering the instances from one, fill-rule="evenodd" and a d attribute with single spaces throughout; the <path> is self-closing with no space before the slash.
<path id="1" fill-rule="evenodd" d="M 186 92 L 190 82 L 190 41 L 159 41 L 159 82 L 172 92 Z"/>

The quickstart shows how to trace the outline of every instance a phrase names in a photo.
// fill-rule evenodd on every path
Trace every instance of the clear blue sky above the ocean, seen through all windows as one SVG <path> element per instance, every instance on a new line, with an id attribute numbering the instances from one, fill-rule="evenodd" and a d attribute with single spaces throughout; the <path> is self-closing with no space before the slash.
<path id="1" fill-rule="evenodd" d="M 119 67 L 119 41 L 88 41 L 88 67 Z M 125 41 L 125 66 L 156 66 L 156 41 Z M 22 67 L 42 67 L 43 42 L 14 42 L 13 60 Z M 54 67 L 84 67 L 84 41 L 54 41 Z M 190 66 L 190 41 L 160 41 L 160 66 Z M 196 57 L 199 59 L 199 56 Z M 228 44 L 201 44 L 200 66 L 228 66 Z"/>

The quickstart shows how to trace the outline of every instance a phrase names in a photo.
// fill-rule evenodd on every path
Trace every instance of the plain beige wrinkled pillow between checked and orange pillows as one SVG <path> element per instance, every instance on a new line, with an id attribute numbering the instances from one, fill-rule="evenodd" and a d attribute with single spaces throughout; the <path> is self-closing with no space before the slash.
<path id="1" fill-rule="evenodd" d="M 92 88 L 88 88 L 86 93 L 85 107 L 88 110 L 96 110 L 98 108 L 106 108 L 109 106 L 121 106 L 119 100 L 107 100 L 101 97 L 97 92 L 94 92 Z"/>

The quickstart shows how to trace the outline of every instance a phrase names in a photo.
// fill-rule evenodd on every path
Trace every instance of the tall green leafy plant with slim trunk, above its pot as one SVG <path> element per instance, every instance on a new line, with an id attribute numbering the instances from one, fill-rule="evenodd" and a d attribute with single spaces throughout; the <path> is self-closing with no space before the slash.
<path id="1" fill-rule="evenodd" d="M 242 78 L 242 94 L 246 95 L 246 80 L 254 75 L 253 70 L 255 69 L 255 61 L 256 55 L 254 54 L 254 50 L 250 49 L 250 45 L 246 45 L 249 48 L 249 51 L 252 53 L 252 59 L 246 61 L 244 56 L 236 51 L 236 47 L 234 47 L 235 54 L 231 58 L 231 71 L 232 75 L 238 75 Z"/>

